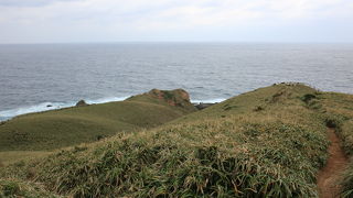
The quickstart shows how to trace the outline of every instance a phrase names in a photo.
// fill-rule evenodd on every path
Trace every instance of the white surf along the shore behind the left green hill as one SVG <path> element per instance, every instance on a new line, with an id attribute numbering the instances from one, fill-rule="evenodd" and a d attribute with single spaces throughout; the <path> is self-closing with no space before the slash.
<path id="1" fill-rule="evenodd" d="M 109 98 L 85 100 L 85 101 L 87 103 L 106 103 L 106 102 L 111 102 L 111 101 L 122 101 L 127 98 L 128 97 L 109 97 Z M 74 101 L 72 101 L 72 102 L 42 102 L 42 103 L 39 103 L 35 106 L 20 107 L 20 108 L 15 108 L 15 109 L 0 111 L 0 121 L 9 120 L 9 119 L 17 117 L 17 116 L 20 116 L 20 114 L 74 107 L 77 101 L 75 101 L 75 102 Z"/>

